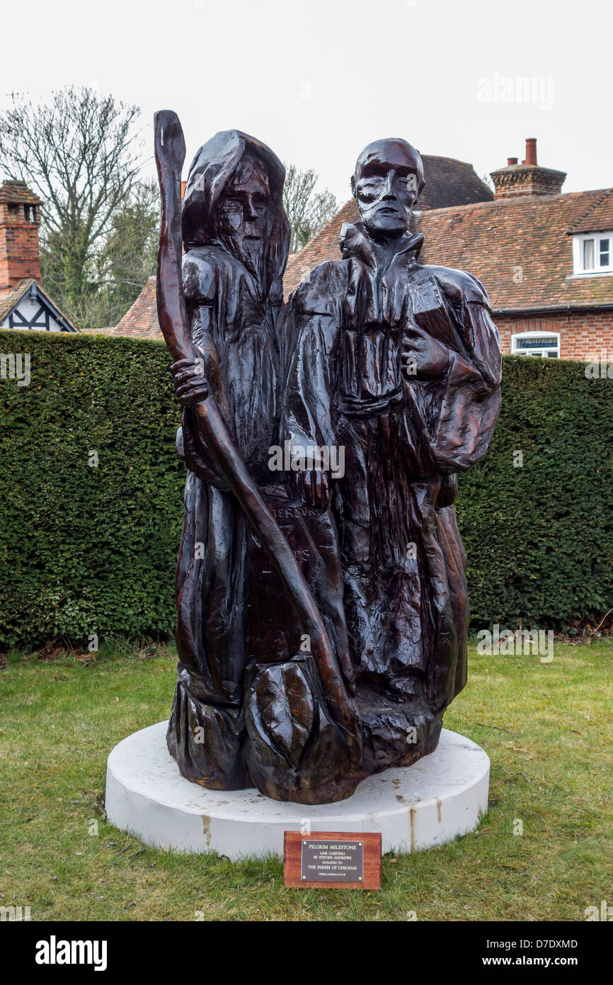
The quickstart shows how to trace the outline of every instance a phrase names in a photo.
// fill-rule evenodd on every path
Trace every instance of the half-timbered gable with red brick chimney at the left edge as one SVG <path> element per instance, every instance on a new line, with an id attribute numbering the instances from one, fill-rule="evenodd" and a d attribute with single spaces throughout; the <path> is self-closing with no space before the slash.
<path id="1" fill-rule="evenodd" d="M 40 285 L 40 199 L 23 181 L 0 185 L 0 328 L 76 332 Z"/>

